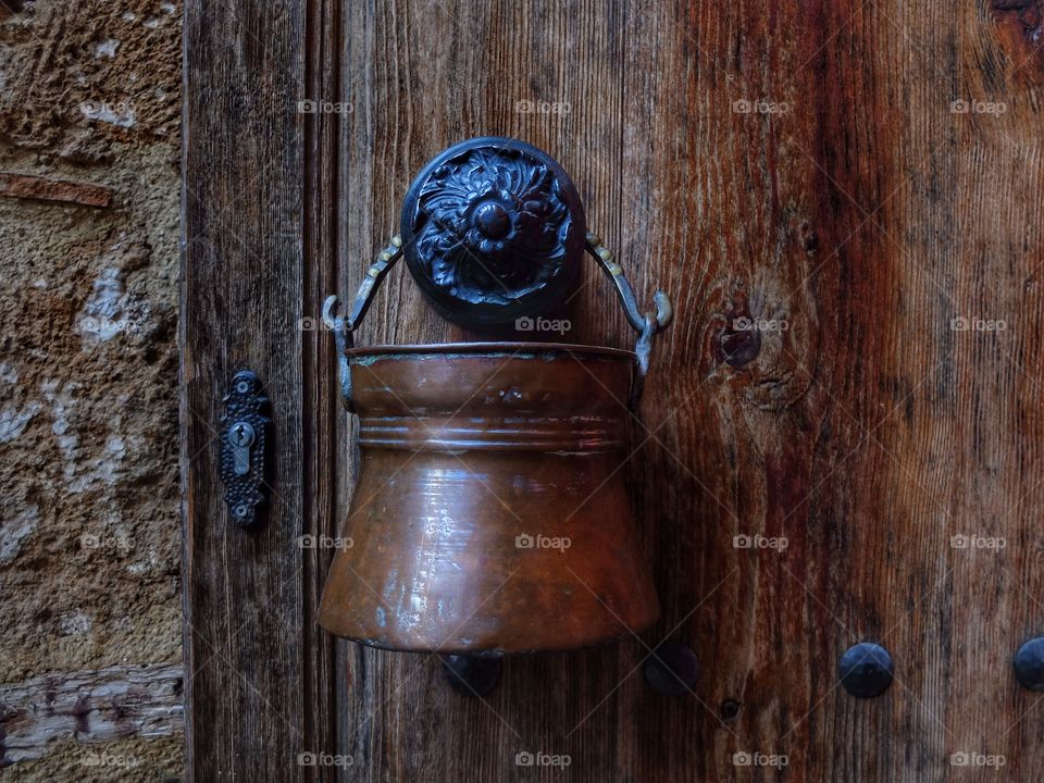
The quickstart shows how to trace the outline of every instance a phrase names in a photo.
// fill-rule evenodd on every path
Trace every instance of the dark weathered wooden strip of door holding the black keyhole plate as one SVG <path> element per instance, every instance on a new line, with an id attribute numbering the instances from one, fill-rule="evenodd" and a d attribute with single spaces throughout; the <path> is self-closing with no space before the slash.
<path id="1" fill-rule="evenodd" d="M 185 10 L 182 465 L 188 775 L 328 779 L 300 763 L 332 748 L 333 644 L 312 618 L 328 559 L 328 361 L 312 303 L 328 159 L 300 111 L 328 77 L 322 3 Z M 309 221 L 304 220 L 306 212 Z M 319 215 L 319 217 L 316 217 Z M 239 369 L 272 401 L 268 510 L 232 522 L 217 478 L 221 398 Z M 322 478 L 320 477 L 322 476 Z M 325 492 L 325 494 L 323 494 Z"/>

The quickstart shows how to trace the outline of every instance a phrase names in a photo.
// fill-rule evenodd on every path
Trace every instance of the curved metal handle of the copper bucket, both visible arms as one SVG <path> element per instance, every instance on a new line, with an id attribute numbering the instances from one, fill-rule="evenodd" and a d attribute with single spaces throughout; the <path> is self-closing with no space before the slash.
<path id="1" fill-rule="evenodd" d="M 658 290 L 652 295 L 656 312 L 643 313 L 638 308 L 637 299 L 635 299 L 634 289 L 631 288 L 631 284 L 623 274 L 623 268 L 614 260 L 612 251 L 605 247 L 601 240 L 591 232 L 587 233 L 584 249 L 612 281 L 613 289 L 623 307 L 627 323 L 638 333 L 638 339 L 634 347 L 637 357 L 637 374 L 631 389 L 631 408 L 634 409 L 642 397 L 645 376 L 649 371 L 652 337 L 671 325 L 671 321 L 674 319 L 674 308 L 671 304 L 670 297 L 662 290 Z M 352 333 L 359 328 L 362 320 L 366 316 L 381 283 L 401 257 L 402 239 L 396 235 L 391 237 L 391 244 L 377 253 L 376 260 L 370 265 L 366 276 L 359 286 L 355 304 L 352 304 L 351 313 L 347 319 L 337 314 L 338 299 L 336 295 L 326 297 L 326 301 L 323 302 L 323 323 L 326 328 L 334 333 L 334 343 L 337 348 L 341 400 L 349 410 L 351 410 L 351 366 L 347 351 L 355 345 Z"/>

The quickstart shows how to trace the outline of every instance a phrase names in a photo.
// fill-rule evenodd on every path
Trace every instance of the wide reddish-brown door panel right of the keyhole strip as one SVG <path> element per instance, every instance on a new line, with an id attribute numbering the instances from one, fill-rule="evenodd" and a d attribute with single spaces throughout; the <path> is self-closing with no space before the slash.
<path id="1" fill-rule="evenodd" d="M 678 310 L 627 467 L 659 625 L 509 660 L 485 703 L 435 659 L 339 643 L 345 778 L 776 780 L 734 763 L 760 753 L 786 780 L 920 783 L 977 779 L 950 763 L 970 753 L 1039 779 L 1044 706 L 1009 669 L 1044 633 L 1039 3 L 396 0 L 338 23 L 343 293 L 418 169 L 501 134 L 556 156 L 639 298 Z M 571 339 L 630 344 L 594 268 L 573 304 Z M 953 327 L 975 318 L 1007 328 Z M 460 336 L 398 270 L 359 341 Z M 734 548 L 755 534 L 788 546 Z M 662 638 L 697 650 L 692 695 L 644 685 Z M 872 701 L 835 675 L 862 639 L 897 666 Z"/>

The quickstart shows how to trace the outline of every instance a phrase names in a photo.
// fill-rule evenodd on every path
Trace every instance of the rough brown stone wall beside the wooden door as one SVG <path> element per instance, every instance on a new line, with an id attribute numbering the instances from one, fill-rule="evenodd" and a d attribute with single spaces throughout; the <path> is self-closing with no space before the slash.
<path id="1" fill-rule="evenodd" d="M 0 683 L 181 659 L 179 38 L 179 3 L 0 3 L 0 173 L 112 191 L 0 196 Z M 57 743 L 2 776 L 164 780 L 181 745 Z M 80 758 L 105 753 L 137 763 Z"/>

